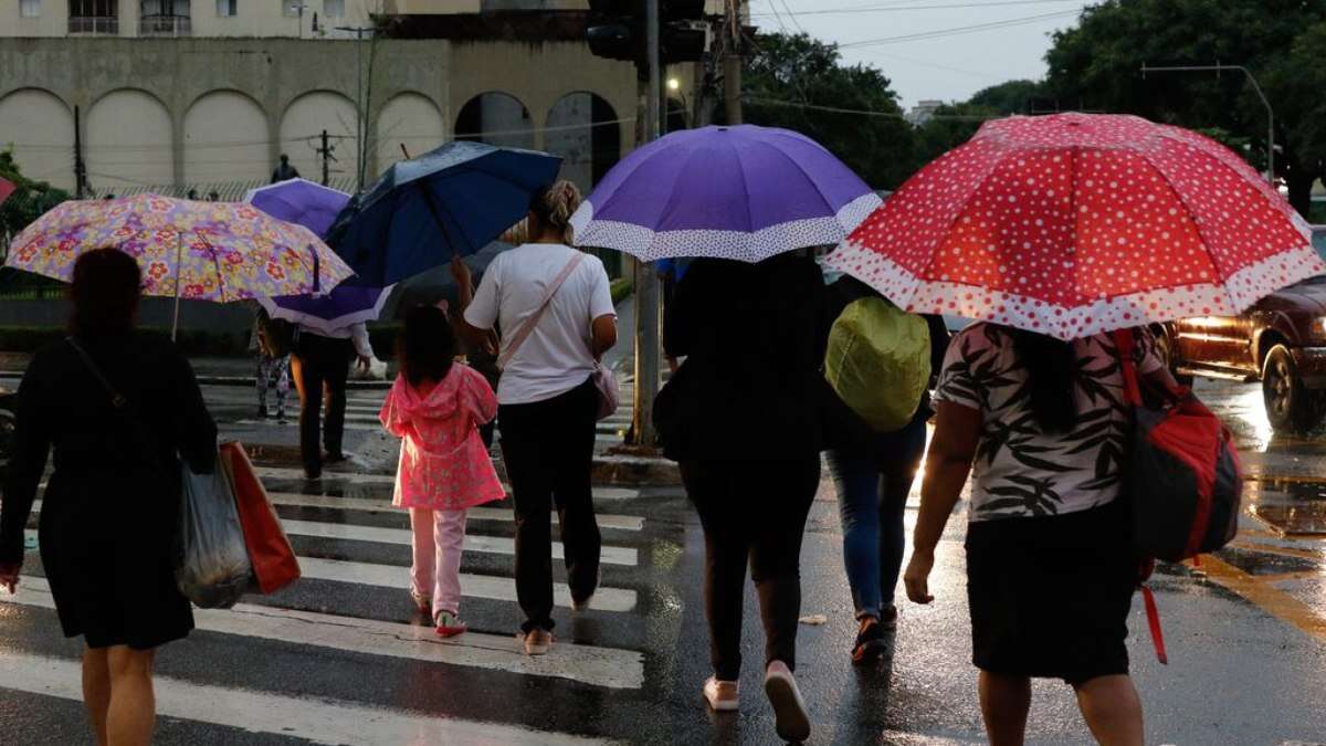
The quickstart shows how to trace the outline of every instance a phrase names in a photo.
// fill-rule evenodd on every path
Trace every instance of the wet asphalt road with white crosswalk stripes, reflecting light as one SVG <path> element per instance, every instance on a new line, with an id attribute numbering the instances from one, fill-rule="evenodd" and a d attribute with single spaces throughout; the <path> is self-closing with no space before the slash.
<path id="1" fill-rule="evenodd" d="M 1326 504 L 1326 437 L 1273 437 L 1254 386 L 1200 382 L 1199 393 L 1236 430 L 1256 479 L 1248 491 L 1253 510 L 1310 516 Z M 210 388 L 207 394 L 228 434 L 269 443 L 264 463 L 293 466 L 293 427 L 247 422 L 248 389 Z M 357 455 L 351 470 L 361 475 L 321 485 L 281 473 L 267 478 L 274 495 L 293 495 L 277 498 L 277 510 L 288 527 L 301 527 L 292 530 L 292 543 L 316 577 L 273 597 L 245 599 L 252 605 L 225 612 L 231 616 L 204 623 L 200 615 L 198 632 L 160 653 L 158 672 L 170 681 L 160 685 L 168 714 L 158 743 L 777 742 L 758 681 L 762 634 L 749 588 L 741 713 L 715 717 L 700 698 L 709 673 L 703 544 L 675 488 L 597 502 L 601 514 L 625 526 L 603 531 L 605 547 L 625 552 L 622 563 L 605 564 L 603 587 L 619 592 L 617 599 L 631 592 L 634 599 L 629 609 L 579 617 L 558 608 L 558 656 L 533 664 L 520 656 L 512 638 L 516 604 L 471 597 L 468 589 L 461 611 L 472 632 L 444 650 L 452 657 L 438 660 L 440 645 L 426 633 L 423 641 L 410 640 L 407 625 L 420 619 L 404 592 L 408 547 L 392 543 L 390 532 L 365 534 L 407 526 L 389 506 L 390 486 L 362 477 L 392 465 L 392 442 L 371 427 L 381 396 L 351 394 L 347 446 Z M 325 499 L 293 504 L 308 503 L 301 495 Z M 630 528 L 635 519 L 643 519 L 639 530 Z M 500 542 L 512 524 L 495 512 L 472 519 L 468 534 Z M 798 680 L 814 721 L 813 743 L 983 741 L 968 662 L 963 534 L 956 518 L 939 552 L 936 603 L 903 603 L 891 657 L 875 669 L 855 669 L 847 657 L 854 623 L 837 506 L 825 481 L 802 550 L 802 613 L 827 619 L 802 625 L 800 634 Z M 626 561 L 631 550 L 635 564 Z M 513 558 L 496 550 L 467 551 L 461 567 L 465 575 L 499 580 L 512 571 Z M 0 743 L 89 743 L 81 706 L 70 698 L 77 696 L 69 678 L 74 669 L 61 666 L 77 657 L 78 642 L 60 636 L 54 612 L 40 603 L 36 554 L 25 573 L 33 580 L 15 599 L 24 603 L 0 599 Z M 1286 539 L 1248 515 L 1235 547 L 1196 568 L 1162 567 L 1154 588 L 1170 665 L 1156 662 L 1140 601 L 1130 646 L 1150 743 L 1326 743 L 1326 540 Z M 290 609 L 306 616 L 281 616 Z M 354 632 L 363 624 L 383 627 Z M 167 692 L 175 698 L 167 701 Z M 1090 741 L 1066 686 L 1037 684 L 1029 735 L 1034 743 Z"/>

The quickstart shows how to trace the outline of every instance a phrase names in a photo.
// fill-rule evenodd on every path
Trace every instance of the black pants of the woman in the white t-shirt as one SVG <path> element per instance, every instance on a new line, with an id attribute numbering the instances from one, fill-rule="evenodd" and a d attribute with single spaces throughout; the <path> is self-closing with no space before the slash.
<path id="1" fill-rule="evenodd" d="M 516 503 L 516 596 L 525 632 L 553 628 L 553 538 L 557 506 L 572 597 L 598 587 L 602 538 L 590 486 L 598 392 L 591 381 L 548 401 L 497 408 L 501 453 Z"/>

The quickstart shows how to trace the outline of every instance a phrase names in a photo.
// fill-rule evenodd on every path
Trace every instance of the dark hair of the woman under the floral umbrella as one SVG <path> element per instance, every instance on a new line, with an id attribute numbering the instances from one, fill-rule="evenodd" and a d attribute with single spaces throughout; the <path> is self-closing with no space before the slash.
<path id="1" fill-rule="evenodd" d="M 89 251 L 74 263 L 69 287 L 70 331 L 80 337 L 129 332 L 138 323 L 143 275 L 138 261 L 114 248 Z"/>

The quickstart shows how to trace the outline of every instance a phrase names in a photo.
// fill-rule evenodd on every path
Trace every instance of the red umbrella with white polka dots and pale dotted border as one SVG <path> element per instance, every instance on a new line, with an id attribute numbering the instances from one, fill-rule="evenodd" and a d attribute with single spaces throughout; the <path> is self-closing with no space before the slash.
<path id="1" fill-rule="evenodd" d="M 1238 155 L 1099 114 L 987 122 L 829 263 L 910 311 L 1065 340 L 1236 315 L 1326 273 L 1307 223 Z"/>

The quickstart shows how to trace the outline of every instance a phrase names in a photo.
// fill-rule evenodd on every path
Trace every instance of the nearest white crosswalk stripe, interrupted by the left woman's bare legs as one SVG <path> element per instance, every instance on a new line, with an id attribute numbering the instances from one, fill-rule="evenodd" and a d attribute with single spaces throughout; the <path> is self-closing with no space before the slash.
<path id="1" fill-rule="evenodd" d="M 81 666 L 66 658 L 5 652 L 4 656 L 0 656 L 0 688 L 80 701 L 82 700 Z M 302 738 L 310 743 L 326 745 L 594 746 L 613 743 L 601 738 L 423 715 L 355 702 L 212 686 L 168 677 L 156 678 L 156 710 L 171 718 L 229 726 L 249 733 Z"/>

